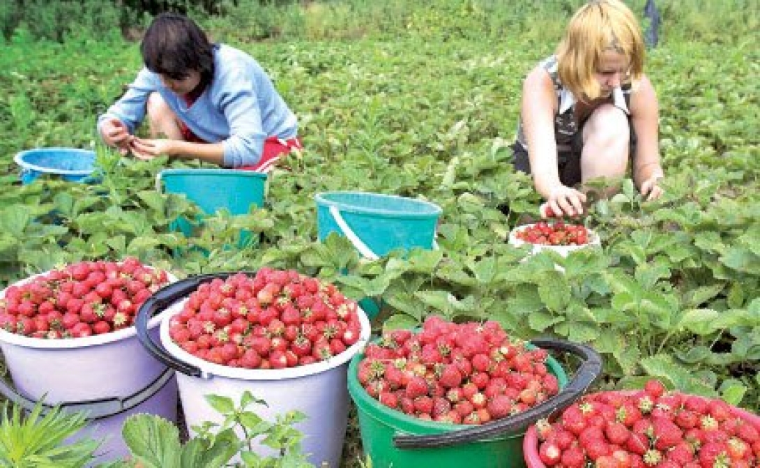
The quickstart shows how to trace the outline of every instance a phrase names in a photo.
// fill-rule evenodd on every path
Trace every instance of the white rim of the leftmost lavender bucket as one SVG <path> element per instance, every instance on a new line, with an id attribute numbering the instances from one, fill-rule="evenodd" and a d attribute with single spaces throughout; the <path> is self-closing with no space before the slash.
<path id="1" fill-rule="evenodd" d="M 150 267 L 151 269 L 155 270 L 156 268 Z M 40 274 L 33 275 L 31 277 L 27 277 L 24 280 L 17 281 L 16 283 L 12 283 L 8 287 L 11 286 L 21 286 L 25 283 L 30 282 L 36 277 L 41 277 L 43 275 L 46 275 L 49 273 L 50 270 L 45 271 Z M 169 273 L 169 271 L 166 271 L 166 277 L 169 280 L 169 283 L 176 282 L 177 278 Z M 5 291 L 8 288 L 3 289 L 0 291 L 0 299 L 5 298 Z M 155 317 L 150 318 L 148 321 L 148 327 L 154 328 L 164 318 L 164 314 L 166 311 L 162 312 L 159 315 L 156 315 Z M 93 335 L 91 337 L 83 337 L 83 338 L 59 338 L 55 340 L 47 340 L 45 338 L 33 338 L 33 337 L 24 337 L 23 335 L 14 334 L 9 331 L 3 330 L 0 328 L 0 343 L 5 344 L 12 344 L 14 346 L 21 346 L 24 348 L 32 348 L 32 349 L 74 349 L 74 348 L 86 348 L 88 346 L 99 346 L 103 344 L 113 343 L 115 341 L 125 340 L 130 337 L 135 337 L 137 335 L 137 328 L 135 325 L 131 325 L 126 328 L 122 328 L 121 330 L 111 331 L 106 334 L 100 334 L 100 335 Z"/>

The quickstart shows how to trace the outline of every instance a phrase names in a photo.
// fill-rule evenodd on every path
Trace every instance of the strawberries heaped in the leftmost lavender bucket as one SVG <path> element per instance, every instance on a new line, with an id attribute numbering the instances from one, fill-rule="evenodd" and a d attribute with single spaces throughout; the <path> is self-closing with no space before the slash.
<path id="1" fill-rule="evenodd" d="M 141 264 L 82 261 L 8 286 L 0 299 L 0 327 L 34 338 L 82 338 L 130 327 L 166 271 Z"/>

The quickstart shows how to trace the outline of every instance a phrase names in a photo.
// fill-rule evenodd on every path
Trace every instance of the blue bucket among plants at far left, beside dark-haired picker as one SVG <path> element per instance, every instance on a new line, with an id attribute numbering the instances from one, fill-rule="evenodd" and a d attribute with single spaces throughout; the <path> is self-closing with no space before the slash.
<path id="1" fill-rule="evenodd" d="M 59 175 L 70 182 L 86 182 L 95 169 L 95 152 L 78 148 L 36 148 L 17 153 L 21 183 L 27 185 L 43 174 Z"/>

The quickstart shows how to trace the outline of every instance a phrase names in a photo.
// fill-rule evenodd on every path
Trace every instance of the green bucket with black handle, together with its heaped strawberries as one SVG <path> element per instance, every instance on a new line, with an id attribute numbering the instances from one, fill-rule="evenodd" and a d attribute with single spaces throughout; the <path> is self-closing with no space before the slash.
<path id="1" fill-rule="evenodd" d="M 549 350 L 581 359 L 571 381 Z M 369 343 L 348 386 L 374 466 L 511 467 L 524 466 L 525 429 L 580 397 L 601 368 L 585 345 L 429 316 Z"/>

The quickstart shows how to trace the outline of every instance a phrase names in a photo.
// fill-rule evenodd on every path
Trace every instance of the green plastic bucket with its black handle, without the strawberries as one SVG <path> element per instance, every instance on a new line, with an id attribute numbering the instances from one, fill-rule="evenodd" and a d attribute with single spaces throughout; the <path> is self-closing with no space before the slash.
<path id="1" fill-rule="evenodd" d="M 534 340 L 543 349 L 569 351 L 584 363 L 568 383 L 562 367 L 549 357 L 547 367 L 556 375 L 562 391 L 524 413 L 484 425 L 454 425 L 424 421 L 391 410 L 366 393 L 356 378 L 363 355 L 350 362 L 348 389 L 356 403 L 365 454 L 373 466 L 524 466 L 524 431 L 538 419 L 569 406 L 600 375 L 601 356 L 588 346 L 556 340 Z"/>

